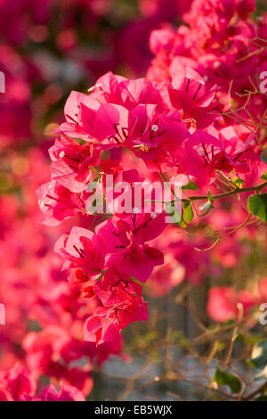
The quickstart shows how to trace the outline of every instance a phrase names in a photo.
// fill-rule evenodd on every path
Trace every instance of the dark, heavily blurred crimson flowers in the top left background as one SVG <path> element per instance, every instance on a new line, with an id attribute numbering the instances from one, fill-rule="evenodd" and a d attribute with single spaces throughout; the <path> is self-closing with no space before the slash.
<path id="1" fill-rule="evenodd" d="M 61 119 L 61 101 L 85 79 L 122 65 L 133 74 L 146 70 L 150 31 L 188 6 L 180 9 L 179 0 L 136 3 L 134 10 L 129 2 L 120 12 L 114 0 L 0 2 L 0 71 L 6 77 L 6 94 L 0 96 L 1 149 L 29 139 L 39 144 L 47 119 L 51 114 Z M 20 124 L 15 115 L 21 116 Z"/>

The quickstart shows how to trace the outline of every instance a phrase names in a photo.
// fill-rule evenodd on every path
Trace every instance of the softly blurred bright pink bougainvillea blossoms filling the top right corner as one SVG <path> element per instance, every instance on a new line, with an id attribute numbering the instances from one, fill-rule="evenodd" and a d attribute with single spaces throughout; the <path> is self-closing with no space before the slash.
<path id="1" fill-rule="evenodd" d="M 263 17 L 252 21 L 254 10 L 254 0 L 194 1 L 183 16 L 189 27 L 151 33 L 150 48 L 156 57 L 148 77 L 171 80 L 188 66 L 198 71 L 208 88 L 220 86 L 217 98 L 223 110 L 232 104 L 229 93 L 241 108 L 248 102 L 246 92 L 256 92 L 266 70 L 266 21 Z M 247 111 L 258 121 L 265 109 L 264 96 L 254 93 L 250 99 Z M 245 109 L 240 115 L 248 117 Z"/>

